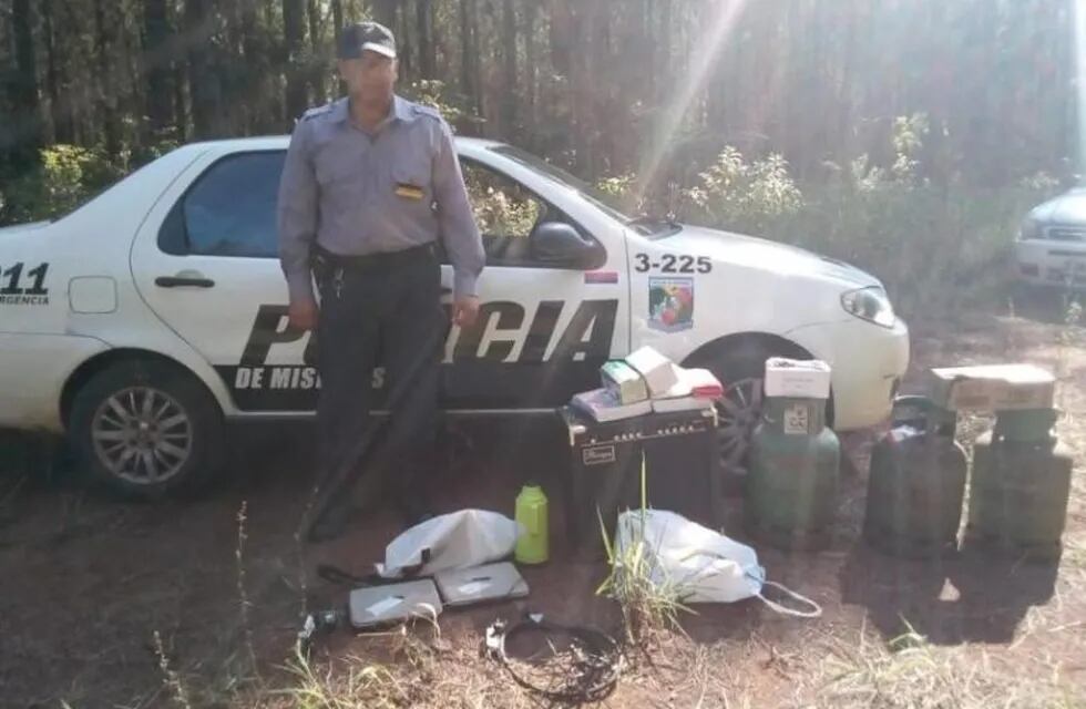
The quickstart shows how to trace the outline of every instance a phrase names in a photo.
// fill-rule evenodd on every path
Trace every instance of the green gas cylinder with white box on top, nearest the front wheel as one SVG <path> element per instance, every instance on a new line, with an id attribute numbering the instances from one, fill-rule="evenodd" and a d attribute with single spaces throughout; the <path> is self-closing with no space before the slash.
<path id="1" fill-rule="evenodd" d="M 751 535 L 772 546 L 829 543 L 841 446 L 824 412 L 823 399 L 766 399 L 751 441 L 746 516 Z"/>

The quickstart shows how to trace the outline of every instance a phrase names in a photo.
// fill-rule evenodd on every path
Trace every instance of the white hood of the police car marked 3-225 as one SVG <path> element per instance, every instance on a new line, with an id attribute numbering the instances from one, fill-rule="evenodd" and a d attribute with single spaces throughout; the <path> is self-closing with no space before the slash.
<path id="1" fill-rule="evenodd" d="M 836 258 L 754 236 L 684 225 L 683 230 L 669 236 L 666 243 L 669 248 L 691 256 L 708 256 L 716 261 L 781 275 L 821 277 L 860 288 L 882 287 L 874 276 Z"/>

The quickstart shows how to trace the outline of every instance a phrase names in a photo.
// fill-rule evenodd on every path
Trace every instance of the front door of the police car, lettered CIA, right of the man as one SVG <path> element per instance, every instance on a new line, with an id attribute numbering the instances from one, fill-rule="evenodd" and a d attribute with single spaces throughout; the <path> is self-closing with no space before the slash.
<path id="1" fill-rule="evenodd" d="M 549 409 L 598 387 L 600 366 L 625 353 L 628 338 L 623 250 L 501 169 L 474 160 L 461 164 L 486 268 L 479 319 L 449 338 L 447 405 Z M 585 266 L 539 258 L 533 238 L 541 225 L 554 223 L 575 228 L 598 259 Z"/>

